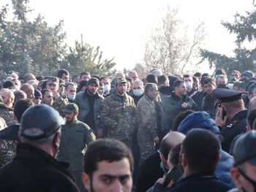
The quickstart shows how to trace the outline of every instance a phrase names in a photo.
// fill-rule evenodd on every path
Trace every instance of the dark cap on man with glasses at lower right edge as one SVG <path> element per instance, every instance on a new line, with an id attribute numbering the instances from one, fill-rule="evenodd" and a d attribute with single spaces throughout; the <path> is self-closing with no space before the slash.
<path id="1" fill-rule="evenodd" d="M 234 146 L 235 166 L 244 162 L 256 165 L 256 131 L 252 130 L 238 137 Z"/>

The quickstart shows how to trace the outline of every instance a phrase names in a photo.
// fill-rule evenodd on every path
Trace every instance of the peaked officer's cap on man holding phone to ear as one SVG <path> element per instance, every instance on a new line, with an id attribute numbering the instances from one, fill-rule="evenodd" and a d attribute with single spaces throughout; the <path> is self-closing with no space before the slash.
<path id="1" fill-rule="evenodd" d="M 227 103 L 241 99 L 241 95 L 245 92 L 234 91 L 226 88 L 216 88 L 212 93 L 214 96 L 217 96 L 219 101 Z"/>

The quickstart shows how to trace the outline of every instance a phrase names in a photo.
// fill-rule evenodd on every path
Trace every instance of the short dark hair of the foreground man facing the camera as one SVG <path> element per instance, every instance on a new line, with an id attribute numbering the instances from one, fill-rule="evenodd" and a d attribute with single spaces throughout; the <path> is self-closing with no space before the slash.
<path id="1" fill-rule="evenodd" d="M 85 167 L 86 174 L 92 175 L 97 170 L 100 161 L 121 161 L 127 158 L 130 170 L 133 169 L 133 157 L 129 148 L 116 139 L 97 139 L 91 142 L 86 150 Z"/>

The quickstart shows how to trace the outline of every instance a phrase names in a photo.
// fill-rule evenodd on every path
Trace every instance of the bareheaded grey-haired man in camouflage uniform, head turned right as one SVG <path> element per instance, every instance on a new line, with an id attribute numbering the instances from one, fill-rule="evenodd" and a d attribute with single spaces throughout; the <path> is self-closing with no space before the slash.
<path id="1" fill-rule="evenodd" d="M 145 95 L 137 106 L 138 144 L 140 146 L 140 164 L 154 153 L 154 143 L 159 142 L 157 137 L 157 110 L 156 98 L 158 88 L 154 83 L 147 83 Z"/>

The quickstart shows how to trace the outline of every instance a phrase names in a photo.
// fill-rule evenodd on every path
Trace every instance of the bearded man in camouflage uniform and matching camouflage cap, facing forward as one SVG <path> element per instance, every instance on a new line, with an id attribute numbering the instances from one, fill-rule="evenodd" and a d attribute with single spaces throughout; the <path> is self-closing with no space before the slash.
<path id="1" fill-rule="evenodd" d="M 108 128 L 108 137 L 118 139 L 132 149 L 132 135 L 137 124 L 135 102 L 127 95 L 125 78 L 117 78 L 115 85 L 115 93 L 103 101 L 99 118 Z"/>

